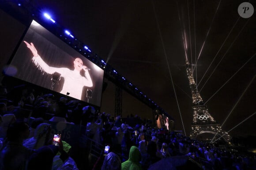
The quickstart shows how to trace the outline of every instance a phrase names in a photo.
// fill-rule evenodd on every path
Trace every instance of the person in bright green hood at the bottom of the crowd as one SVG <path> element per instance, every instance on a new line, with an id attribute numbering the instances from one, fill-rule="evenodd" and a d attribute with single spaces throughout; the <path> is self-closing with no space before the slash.
<path id="1" fill-rule="evenodd" d="M 121 164 L 122 170 L 142 170 L 140 162 L 141 153 L 136 146 L 132 146 L 129 152 L 129 159 Z"/>

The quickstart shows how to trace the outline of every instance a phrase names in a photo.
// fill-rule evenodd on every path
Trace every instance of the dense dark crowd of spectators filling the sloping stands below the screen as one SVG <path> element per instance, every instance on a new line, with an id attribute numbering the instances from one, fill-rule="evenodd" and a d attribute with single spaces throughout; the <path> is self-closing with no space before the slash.
<path id="1" fill-rule="evenodd" d="M 68 101 L 64 97 L 56 99 L 53 94 L 34 96 L 34 90 L 26 88 L 14 105 L 13 99 L 6 97 L 6 90 L 1 89 L 1 93 L 1 170 L 76 170 L 81 167 L 78 159 L 72 158 L 73 146 L 61 140 L 59 145 L 53 145 L 49 122 L 84 127 L 81 134 L 86 134 L 99 147 L 110 146 L 105 154 L 102 148 L 101 156 L 93 162 L 94 170 L 152 170 L 159 169 L 160 161 L 173 163 L 165 166 L 166 170 L 191 169 L 193 166 L 211 170 L 256 169 L 256 155 L 241 155 L 232 149 L 218 148 L 180 133 L 158 129 L 139 116 L 111 119 L 110 114 L 98 112 L 79 101 Z M 177 162 L 184 158 L 186 161 L 178 165 Z"/>

